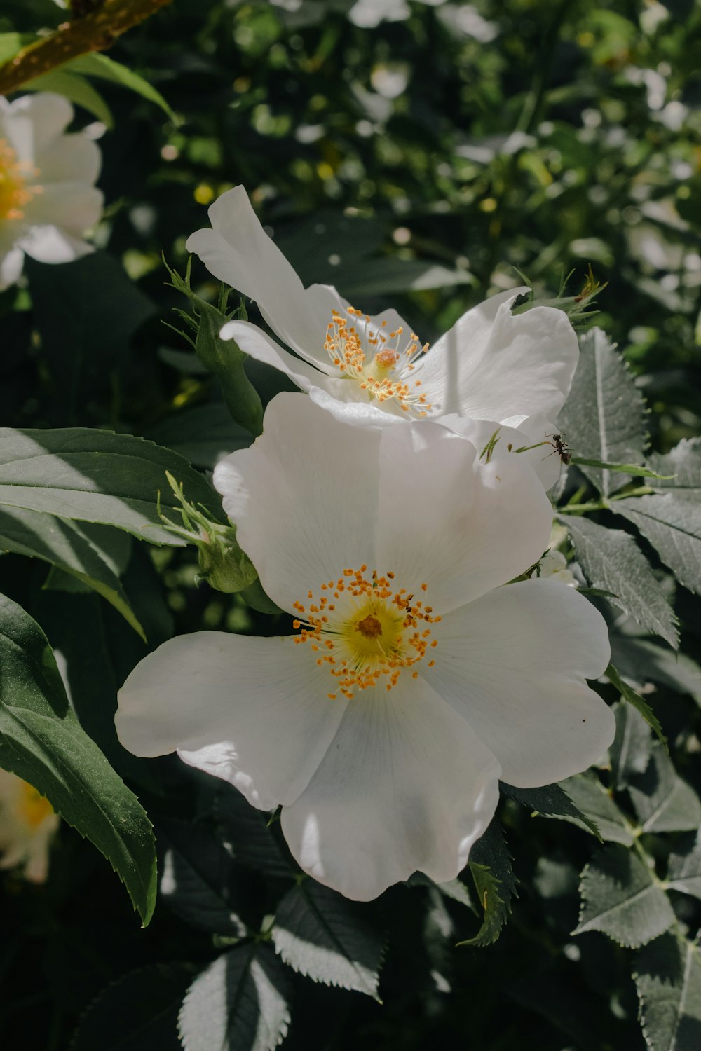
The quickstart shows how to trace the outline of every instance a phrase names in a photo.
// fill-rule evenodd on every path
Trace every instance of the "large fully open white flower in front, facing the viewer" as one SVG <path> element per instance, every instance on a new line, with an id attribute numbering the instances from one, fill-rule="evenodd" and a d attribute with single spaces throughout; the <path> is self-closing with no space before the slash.
<path id="1" fill-rule="evenodd" d="M 164 643 L 120 693 L 120 740 L 282 804 L 301 866 L 349 898 L 416 869 L 450 880 L 499 777 L 549 784 L 611 743 L 585 682 L 609 660 L 603 619 L 548 580 L 501 586 L 552 521 L 518 457 L 479 462 L 431 423 L 354 428 L 298 394 L 264 428 L 214 483 L 296 632 Z"/>

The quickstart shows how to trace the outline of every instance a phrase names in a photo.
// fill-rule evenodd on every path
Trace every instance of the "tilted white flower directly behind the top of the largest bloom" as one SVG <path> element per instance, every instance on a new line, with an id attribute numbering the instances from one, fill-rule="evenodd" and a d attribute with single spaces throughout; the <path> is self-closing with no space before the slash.
<path id="1" fill-rule="evenodd" d="M 469 420 L 517 429 L 515 448 L 547 440 L 570 392 L 579 349 L 566 314 L 534 307 L 514 315 L 516 288 L 468 310 L 428 348 L 395 310 L 371 316 L 335 288 L 305 288 L 267 235 L 243 186 L 223 193 L 208 211 L 211 229 L 198 230 L 187 249 L 220 281 L 254 300 L 294 357 L 248 322 L 232 321 L 222 338 L 281 369 L 311 399 L 351 424 L 385 426 L 442 417 L 463 433 Z M 330 251 L 343 246 L 329 245 Z M 427 352 L 428 351 L 428 352 Z M 488 436 L 489 436 L 488 435 Z M 466 433 L 472 440 L 472 435 Z M 502 452 L 510 441 L 502 442 Z M 547 450 L 532 466 L 549 488 L 559 473 Z"/>

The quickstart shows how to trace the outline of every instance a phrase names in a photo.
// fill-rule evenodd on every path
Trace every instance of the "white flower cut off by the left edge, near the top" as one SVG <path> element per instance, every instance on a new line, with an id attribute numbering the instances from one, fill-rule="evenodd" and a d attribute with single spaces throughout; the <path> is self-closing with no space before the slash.
<path id="1" fill-rule="evenodd" d="M 68 263 L 91 251 L 82 235 L 102 211 L 100 150 L 64 133 L 71 119 L 59 95 L 0 98 L 0 288 L 17 281 L 25 252 Z"/>

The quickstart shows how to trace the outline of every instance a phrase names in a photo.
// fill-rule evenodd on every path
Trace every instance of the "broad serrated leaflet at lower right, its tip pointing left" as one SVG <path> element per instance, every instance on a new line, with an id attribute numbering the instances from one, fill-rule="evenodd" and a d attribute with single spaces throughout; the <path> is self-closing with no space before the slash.
<path id="1" fill-rule="evenodd" d="M 613 942 L 637 949 L 675 922 L 667 895 L 636 853 L 623 846 L 604 847 L 585 866 L 579 925 L 574 934 L 600 930 Z"/>

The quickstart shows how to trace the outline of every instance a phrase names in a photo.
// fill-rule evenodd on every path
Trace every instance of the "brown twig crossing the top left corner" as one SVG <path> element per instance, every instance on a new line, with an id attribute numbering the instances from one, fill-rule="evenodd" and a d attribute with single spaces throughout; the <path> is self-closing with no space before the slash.
<path id="1" fill-rule="evenodd" d="M 132 25 L 170 0 L 103 0 L 97 11 L 64 22 L 50 36 L 23 47 L 0 66 L 0 95 L 9 95 L 35 77 L 87 55 L 103 51 Z"/>

